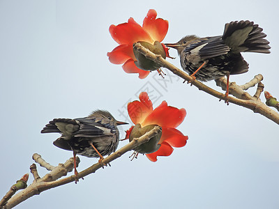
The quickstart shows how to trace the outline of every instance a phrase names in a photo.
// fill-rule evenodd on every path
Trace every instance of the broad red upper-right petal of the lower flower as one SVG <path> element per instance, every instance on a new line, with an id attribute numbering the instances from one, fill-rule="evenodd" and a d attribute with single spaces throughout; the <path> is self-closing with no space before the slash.
<path id="1" fill-rule="evenodd" d="M 184 108 L 177 109 L 167 106 L 167 102 L 163 101 L 145 118 L 142 125 L 157 124 L 161 127 L 177 127 L 183 122 L 185 116 L 186 110 Z"/>

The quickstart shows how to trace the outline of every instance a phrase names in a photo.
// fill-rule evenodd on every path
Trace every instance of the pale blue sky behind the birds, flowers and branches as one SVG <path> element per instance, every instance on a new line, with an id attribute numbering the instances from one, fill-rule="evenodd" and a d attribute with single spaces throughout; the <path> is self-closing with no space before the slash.
<path id="1" fill-rule="evenodd" d="M 188 144 L 150 162 L 126 153 L 75 185 L 50 189 L 17 208 L 278 208 L 278 125 L 234 104 L 225 105 L 181 79 L 162 81 L 123 72 L 107 52 L 117 46 L 110 24 L 129 17 L 142 24 L 150 8 L 169 21 L 164 42 L 187 34 L 217 36 L 225 23 L 251 20 L 264 29 L 271 54 L 243 54 L 250 70 L 231 77 L 243 84 L 264 75 L 279 98 L 277 1 L 0 1 L 0 196 L 39 153 L 56 165 L 73 153 L 52 145 L 59 134 L 40 134 L 52 118 L 77 118 L 107 109 L 119 121 L 126 102 L 149 89 L 154 107 L 166 100 L 185 108 L 178 127 Z M 177 56 L 171 49 L 171 56 Z M 169 60 L 179 66 L 179 59 Z M 167 72 L 167 70 L 164 70 Z M 215 86 L 215 82 L 208 82 Z M 255 88 L 250 93 L 255 92 Z M 264 100 L 264 96 L 261 96 Z M 128 122 L 128 121 L 127 121 Z M 128 125 L 122 126 L 123 131 Z M 120 142 L 119 147 L 127 144 Z M 80 157 L 79 171 L 98 160 Z M 38 167 L 40 176 L 46 171 Z M 73 173 L 71 173 L 73 174 Z M 32 181 L 30 176 L 28 184 Z"/>

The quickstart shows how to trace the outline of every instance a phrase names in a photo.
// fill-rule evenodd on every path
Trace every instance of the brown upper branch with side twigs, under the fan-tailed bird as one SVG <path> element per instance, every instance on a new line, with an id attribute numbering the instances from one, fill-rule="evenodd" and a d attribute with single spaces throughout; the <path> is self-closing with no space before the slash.
<path id="1" fill-rule="evenodd" d="M 202 82 L 199 82 L 197 80 L 192 82 L 192 77 L 190 77 L 190 75 L 180 70 L 179 68 L 176 68 L 176 66 L 172 65 L 172 63 L 169 63 L 168 61 L 163 59 L 162 56 L 158 54 L 153 54 L 153 52 L 149 51 L 149 49 L 142 47 L 140 43 L 137 42 L 134 45 L 134 49 L 142 53 L 147 59 L 151 59 L 152 61 L 161 65 L 163 68 L 167 68 L 168 70 L 172 71 L 175 75 L 178 75 L 187 82 L 191 82 L 191 84 L 199 88 L 200 91 L 209 93 L 210 95 L 213 95 L 214 97 L 219 98 L 220 100 L 228 100 L 228 102 L 230 103 L 251 109 L 255 113 L 259 113 L 262 116 L 269 118 L 271 121 L 279 125 L 278 112 L 271 109 L 266 104 L 261 102 L 261 100 L 259 100 L 259 91 L 257 91 L 257 95 L 253 97 L 252 95 L 243 90 L 243 88 L 246 89 L 250 88 L 251 86 L 255 86 L 255 84 L 259 84 L 259 82 L 262 80 L 262 75 L 257 75 L 254 79 L 252 79 L 247 84 L 244 84 L 243 86 L 238 86 L 234 82 L 230 83 L 229 93 L 234 95 L 235 97 L 229 96 L 226 98 L 224 93 L 220 93 L 214 90 L 213 88 L 210 88 L 209 86 L 202 84 Z M 227 80 L 225 79 L 225 77 L 223 77 L 217 79 L 216 84 L 224 88 L 224 86 L 226 86 L 226 81 Z"/>

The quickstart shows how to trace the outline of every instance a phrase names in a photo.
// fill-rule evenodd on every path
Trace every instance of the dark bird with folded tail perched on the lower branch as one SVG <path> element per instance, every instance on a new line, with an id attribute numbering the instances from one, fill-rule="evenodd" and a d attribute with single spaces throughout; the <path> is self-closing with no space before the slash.
<path id="1" fill-rule="evenodd" d="M 63 150 L 72 150 L 76 182 L 78 172 L 76 168 L 76 155 L 86 157 L 100 157 L 99 163 L 103 165 L 103 155 L 115 152 L 119 144 L 119 130 L 117 125 L 128 124 L 116 119 L 109 111 L 97 109 L 84 118 L 54 118 L 41 133 L 61 134 L 53 144 Z"/>

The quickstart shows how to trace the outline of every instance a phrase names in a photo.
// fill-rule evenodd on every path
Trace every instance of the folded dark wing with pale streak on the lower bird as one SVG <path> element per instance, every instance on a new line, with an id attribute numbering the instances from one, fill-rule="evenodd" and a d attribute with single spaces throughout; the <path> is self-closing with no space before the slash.
<path id="1" fill-rule="evenodd" d="M 75 121 L 80 124 L 80 129 L 74 133 L 74 137 L 103 137 L 116 132 L 115 127 L 102 121 L 96 122 L 96 118 L 77 118 Z"/>

